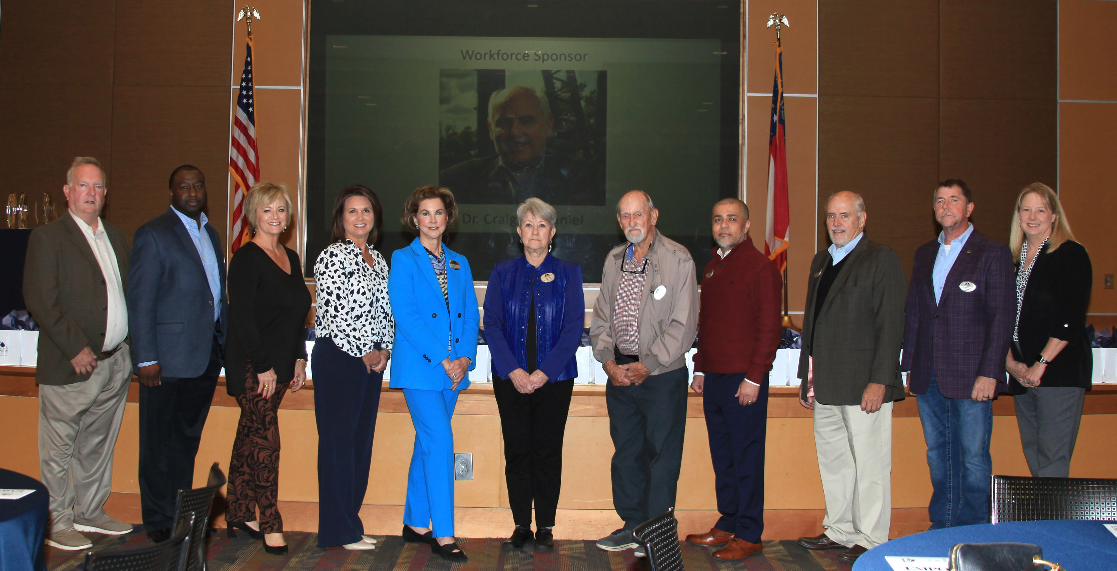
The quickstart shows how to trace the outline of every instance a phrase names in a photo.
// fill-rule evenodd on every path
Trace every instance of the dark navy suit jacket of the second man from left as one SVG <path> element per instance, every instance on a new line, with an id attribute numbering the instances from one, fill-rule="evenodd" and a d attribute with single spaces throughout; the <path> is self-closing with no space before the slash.
<path id="1" fill-rule="evenodd" d="M 217 327 L 225 343 L 225 251 L 212 226 L 203 228 L 213 245 L 221 279 L 214 299 L 198 247 L 172 210 L 136 230 L 128 267 L 128 334 L 132 363 L 159 361 L 163 377 L 190 379 L 206 372 Z M 213 304 L 220 318 L 213 322 Z"/>

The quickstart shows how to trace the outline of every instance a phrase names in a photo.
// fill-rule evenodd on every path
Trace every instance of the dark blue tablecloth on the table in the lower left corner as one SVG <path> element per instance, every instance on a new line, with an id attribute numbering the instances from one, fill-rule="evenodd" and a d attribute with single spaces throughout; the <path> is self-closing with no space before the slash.
<path id="1" fill-rule="evenodd" d="M 0 571 L 45 570 L 47 487 L 30 476 L 0 468 L 0 488 L 35 491 L 19 499 L 0 499 Z"/>

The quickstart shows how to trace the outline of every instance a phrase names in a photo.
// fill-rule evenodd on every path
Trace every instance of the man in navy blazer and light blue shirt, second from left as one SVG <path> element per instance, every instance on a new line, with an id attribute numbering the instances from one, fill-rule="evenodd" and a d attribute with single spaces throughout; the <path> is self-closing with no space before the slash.
<path id="1" fill-rule="evenodd" d="M 128 312 L 140 377 L 140 505 L 147 536 L 170 539 L 178 489 L 213 401 L 225 342 L 225 250 L 206 213 L 206 177 L 183 164 L 171 207 L 136 230 Z"/>

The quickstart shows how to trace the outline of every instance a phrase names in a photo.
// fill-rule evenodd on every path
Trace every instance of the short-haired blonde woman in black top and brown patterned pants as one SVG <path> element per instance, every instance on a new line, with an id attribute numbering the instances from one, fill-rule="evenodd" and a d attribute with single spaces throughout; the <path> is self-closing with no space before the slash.
<path id="1" fill-rule="evenodd" d="M 252 241 L 229 263 L 229 333 L 225 379 L 240 405 L 240 422 L 229 464 L 229 536 L 239 529 L 264 540 L 264 549 L 286 554 L 283 516 L 276 507 L 279 485 L 277 412 L 287 387 L 306 382 L 303 324 L 311 293 L 298 254 L 279 244 L 290 220 L 290 194 L 283 183 L 260 182 L 248 191 L 245 211 Z M 259 522 L 256 511 L 259 508 Z"/>

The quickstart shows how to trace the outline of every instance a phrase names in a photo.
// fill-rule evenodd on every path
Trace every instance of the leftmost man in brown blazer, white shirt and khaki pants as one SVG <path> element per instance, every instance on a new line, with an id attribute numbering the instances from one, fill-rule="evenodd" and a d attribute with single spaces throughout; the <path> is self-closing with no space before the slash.
<path id="1" fill-rule="evenodd" d="M 27 246 L 23 298 L 39 324 L 39 469 L 50 493 L 47 544 L 83 550 L 79 532 L 132 526 L 105 513 L 113 447 L 132 382 L 125 280 L 128 242 L 101 219 L 105 172 L 78 156 L 66 173 L 68 212 L 36 228 Z"/>

